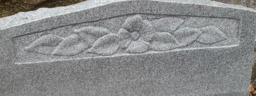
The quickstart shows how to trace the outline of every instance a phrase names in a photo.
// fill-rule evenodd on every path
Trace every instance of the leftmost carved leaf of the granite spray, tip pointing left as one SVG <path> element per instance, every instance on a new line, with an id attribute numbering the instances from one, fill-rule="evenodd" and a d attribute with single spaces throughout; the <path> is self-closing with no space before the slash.
<path id="1" fill-rule="evenodd" d="M 56 35 L 44 35 L 41 38 L 38 38 L 36 41 L 32 42 L 28 47 L 25 47 L 24 50 L 28 52 L 36 52 L 45 55 L 51 55 L 52 51 L 61 43 L 62 38 Z"/>

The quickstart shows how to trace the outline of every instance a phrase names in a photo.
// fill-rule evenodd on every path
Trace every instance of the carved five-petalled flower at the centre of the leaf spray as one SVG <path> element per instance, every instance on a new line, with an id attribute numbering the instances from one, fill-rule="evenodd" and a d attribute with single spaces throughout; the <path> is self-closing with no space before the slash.
<path id="1" fill-rule="evenodd" d="M 140 15 L 128 17 L 117 32 L 120 37 L 119 48 L 133 53 L 146 52 L 149 43 L 143 37 L 145 33 L 152 32 L 152 29 L 152 24 L 148 20 L 143 20 Z"/>

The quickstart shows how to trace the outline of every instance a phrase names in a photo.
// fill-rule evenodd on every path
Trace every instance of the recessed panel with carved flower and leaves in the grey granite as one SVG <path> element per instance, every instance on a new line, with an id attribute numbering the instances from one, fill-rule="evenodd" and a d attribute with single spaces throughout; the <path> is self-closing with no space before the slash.
<path id="1" fill-rule="evenodd" d="M 34 56 L 35 59 L 26 61 L 35 62 L 233 46 L 239 42 L 237 22 L 235 19 L 210 17 L 120 16 L 14 38 L 16 58 L 17 62 L 22 62 Z M 218 25 L 224 23 L 230 23 L 230 26 L 223 28 Z M 19 54 L 30 56 L 20 57 Z"/>

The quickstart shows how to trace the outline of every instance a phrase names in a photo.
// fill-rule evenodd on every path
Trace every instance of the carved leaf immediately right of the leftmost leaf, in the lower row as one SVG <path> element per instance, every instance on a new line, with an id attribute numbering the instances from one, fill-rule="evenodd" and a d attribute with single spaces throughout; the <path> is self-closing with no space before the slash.
<path id="1" fill-rule="evenodd" d="M 76 55 L 84 51 L 88 45 L 79 35 L 70 35 L 56 47 L 52 55 L 70 56 Z"/>

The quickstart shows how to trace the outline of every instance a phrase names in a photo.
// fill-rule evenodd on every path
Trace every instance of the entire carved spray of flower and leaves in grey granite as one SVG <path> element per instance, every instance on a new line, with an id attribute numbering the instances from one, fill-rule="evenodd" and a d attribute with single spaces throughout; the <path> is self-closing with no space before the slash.
<path id="1" fill-rule="evenodd" d="M 119 49 L 131 53 L 149 50 L 167 51 L 186 47 L 195 41 L 214 44 L 227 39 L 215 26 L 202 28 L 177 28 L 184 21 L 177 17 L 143 20 L 140 15 L 128 17 L 115 34 L 102 27 L 87 26 L 74 30 L 68 37 L 44 35 L 32 42 L 25 50 L 46 55 L 71 56 L 81 52 L 113 55 Z"/>

